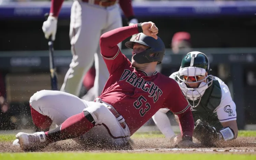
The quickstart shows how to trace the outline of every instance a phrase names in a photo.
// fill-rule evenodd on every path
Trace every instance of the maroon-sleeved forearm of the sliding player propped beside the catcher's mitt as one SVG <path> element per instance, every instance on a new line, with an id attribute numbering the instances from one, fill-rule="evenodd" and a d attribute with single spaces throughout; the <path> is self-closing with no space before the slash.
<path id="1" fill-rule="evenodd" d="M 185 112 L 178 114 L 180 120 L 181 135 L 183 136 L 193 136 L 194 131 L 194 119 L 190 109 Z"/>

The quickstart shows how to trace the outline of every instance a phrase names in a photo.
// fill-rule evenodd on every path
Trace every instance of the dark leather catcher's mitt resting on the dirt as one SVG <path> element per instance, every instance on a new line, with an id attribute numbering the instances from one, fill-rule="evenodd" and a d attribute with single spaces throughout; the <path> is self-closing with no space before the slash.
<path id="1" fill-rule="evenodd" d="M 202 145 L 207 146 L 211 146 L 214 144 L 214 142 L 219 140 L 219 134 L 216 132 L 215 128 L 203 120 L 196 121 L 196 127 L 194 129 L 193 136 L 199 140 Z"/>

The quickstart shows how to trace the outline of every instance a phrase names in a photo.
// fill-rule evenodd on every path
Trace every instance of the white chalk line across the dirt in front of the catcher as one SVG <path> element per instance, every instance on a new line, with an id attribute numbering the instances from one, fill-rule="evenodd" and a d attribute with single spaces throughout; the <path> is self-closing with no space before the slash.
<path id="1" fill-rule="evenodd" d="M 196 149 L 196 148 L 166 148 L 166 149 L 135 149 L 135 150 L 128 150 L 128 151 L 131 151 L 131 152 L 141 152 L 141 151 L 168 151 L 168 150 L 171 150 L 171 151 L 177 151 L 177 150 L 182 150 L 182 151 L 206 151 L 206 152 L 255 152 L 255 150 L 228 150 L 228 149 Z"/>

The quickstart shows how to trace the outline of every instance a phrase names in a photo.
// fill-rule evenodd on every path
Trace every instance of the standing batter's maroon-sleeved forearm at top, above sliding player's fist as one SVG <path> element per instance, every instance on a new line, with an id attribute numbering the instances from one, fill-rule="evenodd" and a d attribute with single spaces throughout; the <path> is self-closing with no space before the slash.
<path id="1" fill-rule="evenodd" d="M 135 18 L 131 4 L 132 4 L 131 0 L 120 0 L 119 1 L 119 5 L 122 8 L 122 11 L 123 11 L 125 17 L 128 19 L 128 21 Z"/>

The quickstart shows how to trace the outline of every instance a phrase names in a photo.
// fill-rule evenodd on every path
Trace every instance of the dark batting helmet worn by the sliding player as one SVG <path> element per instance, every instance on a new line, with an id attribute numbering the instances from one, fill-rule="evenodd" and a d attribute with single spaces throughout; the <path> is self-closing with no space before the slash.
<path id="1" fill-rule="evenodd" d="M 165 55 L 165 44 L 161 40 L 161 38 L 153 38 L 151 36 L 147 36 L 143 33 L 139 33 L 133 41 L 128 41 L 125 43 L 125 46 L 133 49 L 134 43 L 140 43 L 141 45 L 150 47 L 149 49 L 135 54 L 133 59 L 139 64 L 157 62 L 157 64 L 161 64 L 163 60 L 163 56 Z M 150 56 L 151 53 L 155 53 L 153 57 Z"/>

